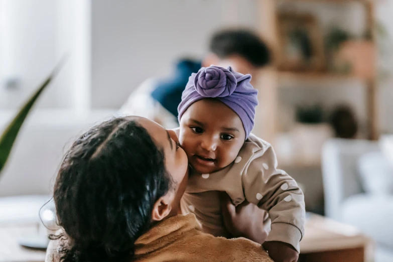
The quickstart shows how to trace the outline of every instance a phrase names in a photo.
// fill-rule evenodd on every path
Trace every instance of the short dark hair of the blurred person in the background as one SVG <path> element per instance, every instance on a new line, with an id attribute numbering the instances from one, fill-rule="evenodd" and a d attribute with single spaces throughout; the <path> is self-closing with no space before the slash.
<path id="1" fill-rule="evenodd" d="M 209 49 L 221 59 L 239 55 L 255 67 L 266 66 L 271 61 L 268 46 L 255 33 L 244 29 L 226 29 L 215 33 L 210 39 Z"/>

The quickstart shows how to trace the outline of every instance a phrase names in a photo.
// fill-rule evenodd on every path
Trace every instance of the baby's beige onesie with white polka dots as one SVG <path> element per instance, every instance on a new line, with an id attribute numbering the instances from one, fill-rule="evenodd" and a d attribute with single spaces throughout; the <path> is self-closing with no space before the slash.
<path id="1" fill-rule="evenodd" d="M 289 243 L 299 252 L 305 222 L 303 192 L 293 178 L 277 169 L 269 143 L 250 134 L 232 164 L 211 174 L 190 174 L 182 212 L 194 213 L 205 232 L 228 237 L 219 191 L 226 191 L 235 205 L 247 200 L 267 210 L 271 219 L 267 241 Z"/>

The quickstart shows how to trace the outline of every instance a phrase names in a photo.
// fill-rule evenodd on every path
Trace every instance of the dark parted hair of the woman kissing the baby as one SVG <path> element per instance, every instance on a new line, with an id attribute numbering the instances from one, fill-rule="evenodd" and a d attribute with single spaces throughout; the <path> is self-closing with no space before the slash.
<path id="1" fill-rule="evenodd" d="M 66 239 L 62 261 L 125 261 L 150 226 L 154 203 L 172 186 L 162 149 L 136 121 L 115 118 L 82 135 L 55 188 Z"/>

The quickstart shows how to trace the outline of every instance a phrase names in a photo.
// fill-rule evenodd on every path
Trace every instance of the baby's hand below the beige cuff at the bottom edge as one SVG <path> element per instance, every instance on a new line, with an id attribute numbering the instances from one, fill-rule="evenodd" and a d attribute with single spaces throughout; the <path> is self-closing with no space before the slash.
<path id="1" fill-rule="evenodd" d="M 281 241 L 266 241 L 264 248 L 269 252 L 269 256 L 276 262 L 297 262 L 299 258 L 298 251 L 295 248 Z"/>

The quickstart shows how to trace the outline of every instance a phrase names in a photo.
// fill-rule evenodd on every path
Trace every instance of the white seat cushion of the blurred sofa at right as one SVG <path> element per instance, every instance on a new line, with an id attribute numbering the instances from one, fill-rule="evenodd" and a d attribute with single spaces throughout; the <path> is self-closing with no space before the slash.
<path id="1" fill-rule="evenodd" d="M 356 226 L 377 243 L 393 248 L 393 196 L 359 194 L 347 198 L 342 221 Z"/>

